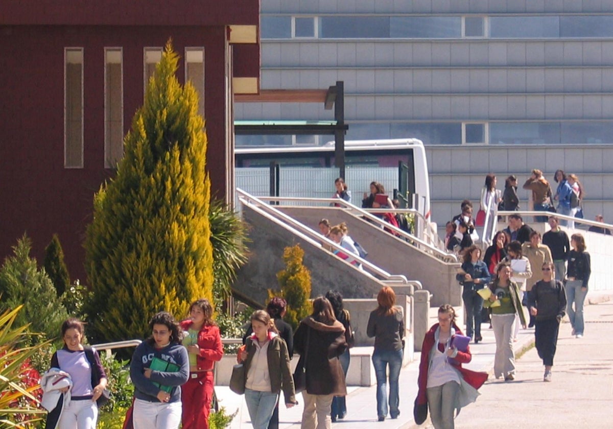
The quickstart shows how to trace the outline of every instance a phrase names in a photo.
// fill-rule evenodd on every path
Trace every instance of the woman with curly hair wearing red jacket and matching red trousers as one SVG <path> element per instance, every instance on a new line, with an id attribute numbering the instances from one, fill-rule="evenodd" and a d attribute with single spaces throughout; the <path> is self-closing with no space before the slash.
<path id="1" fill-rule="evenodd" d="M 224 354 L 219 327 L 211 320 L 213 307 L 202 299 L 189 306 L 189 319 L 181 322 L 188 349 L 189 379 L 181 386 L 183 429 L 208 429 L 213 399 L 213 369 Z"/>

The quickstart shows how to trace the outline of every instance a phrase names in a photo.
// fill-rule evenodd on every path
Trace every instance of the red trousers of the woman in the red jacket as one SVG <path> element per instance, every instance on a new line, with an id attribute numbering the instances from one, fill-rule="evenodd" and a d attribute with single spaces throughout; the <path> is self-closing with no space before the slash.
<path id="1" fill-rule="evenodd" d="M 198 373 L 181 386 L 183 429 L 208 429 L 208 414 L 213 400 L 213 372 Z"/>

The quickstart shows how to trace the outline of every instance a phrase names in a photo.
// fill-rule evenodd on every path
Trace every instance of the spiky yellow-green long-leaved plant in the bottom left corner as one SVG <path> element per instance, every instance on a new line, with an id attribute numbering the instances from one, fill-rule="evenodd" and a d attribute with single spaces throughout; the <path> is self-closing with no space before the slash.
<path id="1" fill-rule="evenodd" d="M 39 400 L 32 392 L 39 389 L 38 382 L 26 387 L 25 378 L 29 368 L 26 363 L 29 357 L 36 353 L 40 347 L 48 344 L 23 347 L 28 343 L 29 325 L 13 328 L 13 322 L 21 309 L 21 305 L 14 309 L 7 309 L 0 314 L 0 427 L 25 428 L 23 419 L 25 414 L 37 415 L 45 411 L 38 407 Z M 26 401 L 20 401 L 25 398 Z M 17 405 L 16 405 L 17 404 Z M 17 419 L 20 416 L 20 419 Z M 32 423 L 29 420 L 28 423 Z"/>

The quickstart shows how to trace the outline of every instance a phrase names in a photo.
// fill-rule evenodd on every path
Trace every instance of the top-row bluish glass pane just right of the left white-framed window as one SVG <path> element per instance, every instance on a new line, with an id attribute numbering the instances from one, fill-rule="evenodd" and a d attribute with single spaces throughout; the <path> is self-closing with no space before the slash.
<path id="1" fill-rule="evenodd" d="M 389 17 L 321 17 L 323 39 L 387 39 Z"/>

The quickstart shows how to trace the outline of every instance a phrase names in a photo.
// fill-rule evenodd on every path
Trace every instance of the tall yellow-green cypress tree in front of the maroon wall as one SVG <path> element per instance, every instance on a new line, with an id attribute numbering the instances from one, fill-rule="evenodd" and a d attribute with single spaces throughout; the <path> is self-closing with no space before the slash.
<path id="1" fill-rule="evenodd" d="M 94 197 L 86 241 L 85 306 L 94 341 L 142 338 L 154 313 L 212 302 L 213 256 L 198 96 L 177 80 L 170 42 L 124 139 L 116 177 Z"/>

